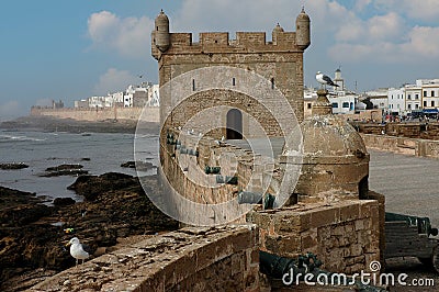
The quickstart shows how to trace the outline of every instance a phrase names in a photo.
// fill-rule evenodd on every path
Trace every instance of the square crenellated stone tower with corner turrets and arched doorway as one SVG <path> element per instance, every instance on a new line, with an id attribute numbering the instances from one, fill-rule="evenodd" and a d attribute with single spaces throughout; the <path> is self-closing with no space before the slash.
<path id="1" fill-rule="evenodd" d="M 168 16 L 161 11 L 151 33 L 151 54 L 158 60 L 159 85 L 164 87 L 177 77 L 201 68 L 214 66 L 239 68 L 267 79 L 269 87 L 279 90 L 285 97 L 301 122 L 303 54 L 311 44 L 309 22 L 308 15 L 302 10 L 296 18 L 297 31 L 285 32 L 278 24 L 272 31 L 272 41 L 266 40 L 264 32 L 237 32 L 235 40 L 230 40 L 227 32 L 211 32 L 200 33 L 200 41 L 194 43 L 191 33 L 169 32 Z M 212 76 L 212 79 L 214 78 Z M 232 86 L 246 81 L 235 75 L 230 75 L 229 79 Z M 205 80 L 200 81 L 196 78 L 188 80 L 182 88 L 189 91 L 190 97 L 184 100 L 182 94 L 173 92 L 171 98 L 169 92 L 160 90 L 162 131 L 183 126 L 202 110 L 221 104 L 228 106 L 228 110 L 218 110 L 211 119 L 219 119 L 224 126 L 212 131 L 211 136 L 250 137 L 255 133 L 252 119 L 262 125 L 269 136 L 282 135 L 273 113 L 268 112 L 258 101 L 234 90 L 203 90 L 203 82 L 206 83 Z M 268 93 L 268 97 L 270 96 Z M 249 112 L 251 116 L 248 117 L 240 112 Z M 194 127 L 196 130 L 196 125 Z M 227 131 L 229 127 L 234 131 Z"/>

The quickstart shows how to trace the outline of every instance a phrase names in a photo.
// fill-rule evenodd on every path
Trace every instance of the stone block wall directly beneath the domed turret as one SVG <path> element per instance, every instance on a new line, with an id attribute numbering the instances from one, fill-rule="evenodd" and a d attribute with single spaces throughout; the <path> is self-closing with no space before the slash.
<path id="1" fill-rule="evenodd" d="M 313 252 L 323 269 L 348 274 L 380 260 L 380 206 L 376 200 L 293 205 L 252 212 L 261 250 L 296 258 Z"/>

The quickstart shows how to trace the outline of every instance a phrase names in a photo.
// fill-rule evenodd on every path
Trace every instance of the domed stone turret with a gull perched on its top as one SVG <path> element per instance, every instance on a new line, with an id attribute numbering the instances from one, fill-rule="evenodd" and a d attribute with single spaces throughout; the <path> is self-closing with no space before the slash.
<path id="1" fill-rule="evenodd" d="M 299 201 L 361 198 L 368 191 L 370 158 L 364 143 L 349 123 L 331 114 L 327 91 L 317 94 L 313 115 L 301 123 L 302 171 L 294 194 Z"/>

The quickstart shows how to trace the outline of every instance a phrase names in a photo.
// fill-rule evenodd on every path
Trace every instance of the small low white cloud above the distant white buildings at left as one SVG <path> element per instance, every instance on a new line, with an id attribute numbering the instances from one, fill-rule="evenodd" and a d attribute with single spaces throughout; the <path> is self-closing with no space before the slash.
<path id="1" fill-rule="evenodd" d="M 110 68 L 99 77 L 98 85 L 94 86 L 94 94 L 105 96 L 109 92 L 124 90 L 128 85 L 137 83 L 138 77 L 126 70 Z"/>

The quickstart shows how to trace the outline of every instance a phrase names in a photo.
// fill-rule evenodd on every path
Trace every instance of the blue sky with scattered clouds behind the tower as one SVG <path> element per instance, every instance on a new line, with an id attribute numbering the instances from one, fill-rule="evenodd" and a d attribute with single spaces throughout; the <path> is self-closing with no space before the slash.
<path id="1" fill-rule="evenodd" d="M 295 30 L 304 5 L 312 44 L 304 83 L 340 68 L 358 92 L 439 78 L 439 0 L 3 0 L 0 10 L 0 121 L 46 105 L 158 81 L 154 20 L 171 32 Z M 142 78 L 139 78 L 142 76 Z"/>

